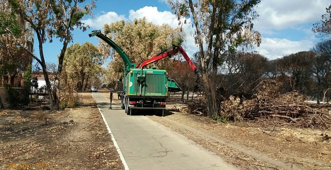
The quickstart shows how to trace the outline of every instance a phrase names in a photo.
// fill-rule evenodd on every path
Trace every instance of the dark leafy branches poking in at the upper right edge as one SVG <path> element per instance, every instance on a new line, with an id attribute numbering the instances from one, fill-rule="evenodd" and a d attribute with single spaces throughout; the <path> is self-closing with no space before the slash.
<path id="1" fill-rule="evenodd" d="M 319 33 L 321 37 L 331 35 L 331 4 L 325 8 L 326 13 L 322 15 L 322 20 L 313 24 L 312 31 Z"/>

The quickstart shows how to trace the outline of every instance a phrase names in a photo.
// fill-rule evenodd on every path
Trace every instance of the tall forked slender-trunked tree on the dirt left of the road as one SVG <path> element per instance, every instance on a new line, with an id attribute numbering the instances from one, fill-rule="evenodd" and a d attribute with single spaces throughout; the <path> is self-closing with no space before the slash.
<path id="1" fill-rule="evenodd" d="M 40 58 L 37 57 L 33 51 L 27 49 L 19 37 L 16 36 L 16 29 L 9 27 L 8 25 L 1 24 L 3 30 L 2 33 L 11 34 L 14 40 L 21 44 L 21 46 L 29 52 L 34 59 L 36 59 L 42 69 L 45 76 L 45 81 L 51 101 L 51 109 L 55 109 L 58 105 L 56 88 L 53 88 L 47 74 L 47 67 L 44 56 L 43 44 L 49 39 L 53 41 L 53 36 L 60 38 L 63 42 L 61 54 L 59 56 L 58 71 L 55 80 L 57 84 L 55 87 L 59 87 L 59 75 L 62 71 L 63 58 L 68 43 L 72 40 L 72 30 L 74 27 L 86 30 L 86 25 L 81 22 L 81 18 L 91 13 L 91 9 L 95 7 L 94 1 L 86 3 L 83 7 L 80 4 L 86 0 L 6 0 L 8 7 L 12 8 L 16 14 L 20 15 L 25 22 L 29 23 L 34 29 L 37 35 L 39 44 Z"/>

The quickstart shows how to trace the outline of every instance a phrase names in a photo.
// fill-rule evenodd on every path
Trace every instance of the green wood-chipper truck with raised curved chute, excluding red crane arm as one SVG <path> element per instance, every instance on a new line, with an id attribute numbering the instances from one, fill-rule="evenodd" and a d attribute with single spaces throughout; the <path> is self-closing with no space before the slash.
<path id="1" fill-rule="evenodd" d="M 92 31 L 89 36 L 98 36 L 121 56 L 124 62 L 123 91 L 118 91 L 121 96 L 121 107 L 127 114 L 134 109 L 155 109 L 164 114 L 166 99 L 169 91 L 181 91 L 173 79 L 168 79 L 166 70 L 135 68 L 126 53 L 110 38 L 103 35 L 100 30 Z"/>

